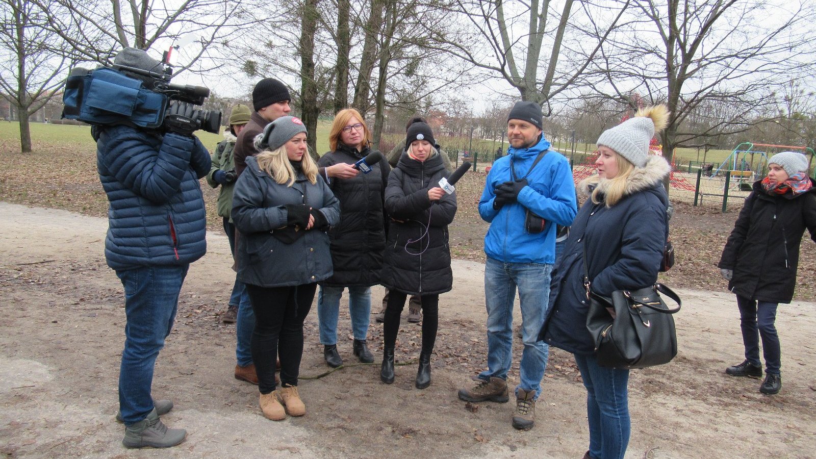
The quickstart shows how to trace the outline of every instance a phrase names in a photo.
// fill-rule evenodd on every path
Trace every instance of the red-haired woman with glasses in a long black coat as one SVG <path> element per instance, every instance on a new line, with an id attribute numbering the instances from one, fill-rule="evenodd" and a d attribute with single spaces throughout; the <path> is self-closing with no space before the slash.
<path id="1" fill-rule="evenodd" d="M 337 319 L 340 297 L 348 288 L 348 312 L 354 335 L 353 354 L 363 363 L 374 362 L 368 350 L 369 315 L 372 285 L 379 284 L 385 248 L 383 196 L 391 167 L 385 158 L 370 164 L 370 172 L 353 168 L 361 158 L 372 153 L 370 132 L 355 109 L 340 110 L 329 133 L 330 152 L 318 166 L 327 172 L 342 167 L 352 176 L 324 174 L 326 182 L 340 201 L 340 222 L 329 232 L 331 261 L 335 274 L 320 284 L 317 293 L 317 318 L 323 357 L 330 367 L 339 367 L 343 359 L 337 350 Z"/>

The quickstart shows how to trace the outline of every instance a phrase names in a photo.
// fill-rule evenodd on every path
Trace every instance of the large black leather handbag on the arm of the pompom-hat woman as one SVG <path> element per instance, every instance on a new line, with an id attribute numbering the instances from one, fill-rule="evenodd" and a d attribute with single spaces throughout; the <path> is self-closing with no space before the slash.
<path id="1" fill-rule="evenodd" d="M 616 290 L 611 298 L 596 295 L 588 278 L 586 249 L 583 263 L 589 301 L 587 329 L 595 341 L 598 364 L 632 369 L 671 362 L 677 354 L 672 314 L 681 308 L 680 296 L 662 283 L 633 291 Z M 676 309 L 669 309 L 660 293 L 675 301 Z"/>

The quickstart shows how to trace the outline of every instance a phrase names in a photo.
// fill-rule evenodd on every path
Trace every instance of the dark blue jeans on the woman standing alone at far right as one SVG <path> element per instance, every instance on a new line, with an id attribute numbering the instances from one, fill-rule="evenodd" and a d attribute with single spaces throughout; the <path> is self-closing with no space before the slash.
<path id="1" fill-rule="evenodd" d="M 743 329 L 745 359 L 757 367 L 762 367 L 760 361 L 760 336 L 762 336 L 765 372 L 778 375 L 782 366 L 779 336 L 774 325 L 778 303 L 753 301 L 744 296 L 737 296 L 737 306 L 740 328 Z"/>

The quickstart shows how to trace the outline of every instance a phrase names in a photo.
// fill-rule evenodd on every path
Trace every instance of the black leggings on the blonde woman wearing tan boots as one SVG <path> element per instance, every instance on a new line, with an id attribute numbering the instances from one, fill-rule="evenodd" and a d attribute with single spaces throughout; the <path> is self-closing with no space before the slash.
<path id="1" fill-rule="evenodd" d="M 304 354 L 304 320 L 312 308 L 317 283 L 295 287 L 258 287 L 246 284 L 255 330 L 250 349 L 258 390 L 268 394 L 275 390 L 275 359 L 281 359 L 281 383 L 298 385 L 300 359 Z"/>

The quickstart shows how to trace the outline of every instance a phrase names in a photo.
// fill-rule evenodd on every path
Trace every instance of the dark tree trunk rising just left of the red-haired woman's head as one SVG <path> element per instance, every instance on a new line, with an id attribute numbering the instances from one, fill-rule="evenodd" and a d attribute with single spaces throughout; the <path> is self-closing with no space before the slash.
<path id="1" fill-rule="evenodd" d="M 317 2 L 304 2 L 303 20 L 300 28 L 300 118 L 308 132 L 306 143 L 309 154 L 317 161 L 317 83 L 314 79 L 314 35 L 317 32 Z"/>

